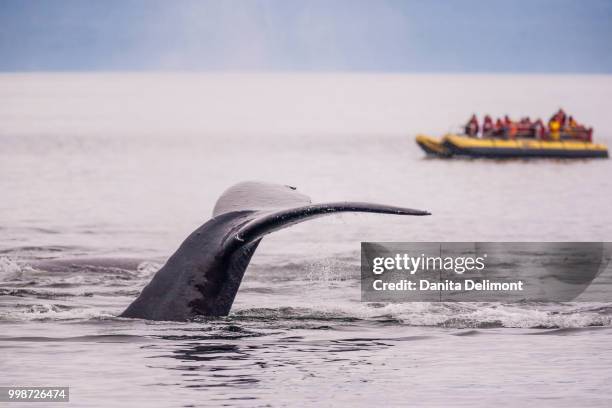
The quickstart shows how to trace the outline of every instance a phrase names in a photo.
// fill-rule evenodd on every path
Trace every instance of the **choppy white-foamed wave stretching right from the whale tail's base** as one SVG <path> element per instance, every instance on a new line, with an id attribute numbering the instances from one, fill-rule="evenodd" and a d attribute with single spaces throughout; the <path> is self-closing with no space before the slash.
<path id="1" fill-rule="evenodd" d="M 577 328 L 612 326 L 612 305 L 398 303 L 310 308 L 249 308 L 233 313 L 237 319 L 273 319 L 329 323 L 367 322 L 441 328 Z"/>

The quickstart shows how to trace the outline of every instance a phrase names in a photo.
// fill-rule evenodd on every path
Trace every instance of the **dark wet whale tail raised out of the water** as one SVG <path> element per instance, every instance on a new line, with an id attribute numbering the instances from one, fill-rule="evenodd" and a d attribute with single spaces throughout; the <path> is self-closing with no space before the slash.
<path id="1" fill-rule="evenodd" d="M 429 215 L 373 203 L 311 204 L 292 186 L 239 183 L 219 197 L 213 218 L 187 237 L 121 316 L 177 321 L 225 316 L 264 235 L 337 212 Z"/>

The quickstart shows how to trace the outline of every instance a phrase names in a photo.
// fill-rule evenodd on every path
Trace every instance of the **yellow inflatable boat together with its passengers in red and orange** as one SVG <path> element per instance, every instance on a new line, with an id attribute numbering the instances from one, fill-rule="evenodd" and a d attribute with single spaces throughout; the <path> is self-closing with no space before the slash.
<path id="1" fill-rule="evenodd" d="M 559 110 L 544 127 L 538 119 L 519 122 L 506 116 L 496 123 L 486 116 L 480 126 L 473 115 L 464 134 L 446 134 L 441 138 L 417 135 L 417 144 L 429 156 L 478 158 L 607 158 L 608 148 L 593 143 L 593 129 L 578 124 Z"/>

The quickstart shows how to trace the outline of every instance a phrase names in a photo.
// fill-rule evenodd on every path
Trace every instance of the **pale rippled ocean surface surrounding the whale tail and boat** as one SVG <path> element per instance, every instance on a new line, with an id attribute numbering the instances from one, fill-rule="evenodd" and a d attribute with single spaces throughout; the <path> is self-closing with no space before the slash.
<path id="1" fill-rule="evenodd" d="M 610 145 L 611 99 L 612 76 L 2 74 L 0 386 L 69 386 L 79 407 L 609 407 L 612 295 L 362 303 L 359 250 L 612 241 L 611 160 L 437 160 L 414 143 L 472 113 L 563 107 Z M 269 235 L 227 318 L 117 318 L 243 180 L 433 215 Z"/>

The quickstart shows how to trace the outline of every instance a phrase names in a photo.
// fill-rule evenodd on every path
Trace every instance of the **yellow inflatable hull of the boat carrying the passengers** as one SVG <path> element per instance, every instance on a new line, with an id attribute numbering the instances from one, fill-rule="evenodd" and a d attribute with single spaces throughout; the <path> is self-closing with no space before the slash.
<path id="1" fill-rule="evenodd" d="M 431 156 L 436 157 L 483 157 L 505 158 L 607 158 L 608 148 L 581 140 L 537 140 L 475 138 L 448 134 L 442 138 L 425 135 L 416 137 L 417 144 Z"/>

